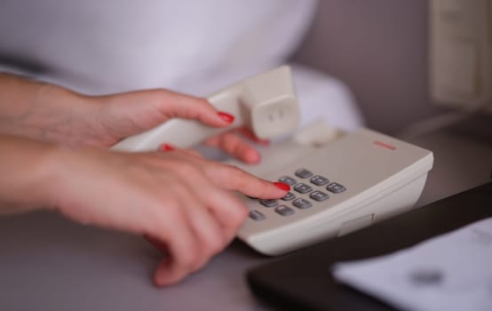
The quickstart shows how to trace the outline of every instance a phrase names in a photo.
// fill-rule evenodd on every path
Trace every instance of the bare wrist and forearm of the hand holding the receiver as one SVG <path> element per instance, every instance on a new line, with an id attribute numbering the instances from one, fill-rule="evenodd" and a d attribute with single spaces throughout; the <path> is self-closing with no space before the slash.
<path id="1" fill-rule="evenodd" d="M 0 102 L 0 133 L 76 145 L 88 128 L 90 98 L 58 85 L 0 73 Z"/>

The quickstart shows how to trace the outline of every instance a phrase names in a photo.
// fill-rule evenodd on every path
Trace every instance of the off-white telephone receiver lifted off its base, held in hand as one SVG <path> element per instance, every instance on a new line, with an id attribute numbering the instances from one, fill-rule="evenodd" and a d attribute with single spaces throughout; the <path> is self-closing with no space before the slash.
<path id="1" fill-rule="evenodd" d="M 258 139 L 294 132 L 300 112 L 290 67 L 282 66 L 233 84 L 208 97 L 219 111 L 233 115 L 234 123 L 213 128 L 196 120 L 172 119 L 154 129 L 115 144 L 118 151 L 155 151 L 163 142 L 191 148 L 206 138 L 246 126 Z"/>

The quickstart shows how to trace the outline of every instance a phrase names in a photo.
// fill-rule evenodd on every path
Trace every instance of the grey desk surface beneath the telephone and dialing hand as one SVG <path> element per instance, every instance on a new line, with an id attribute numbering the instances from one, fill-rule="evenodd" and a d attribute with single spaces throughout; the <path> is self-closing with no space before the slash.
<path id="1" fill-rule="evenodd" d="M 450 132 L 413 141 L 434 152 L 417 205 L 487 182 L 492 145 Z M 159 253 L 142 238 L 83 227 L 57 214 L 0 218 L 0 309 L 267 310 L 250 293 L 249 267 L 270 260 L 240 242 L 183 283 L 157 289 Z"/>

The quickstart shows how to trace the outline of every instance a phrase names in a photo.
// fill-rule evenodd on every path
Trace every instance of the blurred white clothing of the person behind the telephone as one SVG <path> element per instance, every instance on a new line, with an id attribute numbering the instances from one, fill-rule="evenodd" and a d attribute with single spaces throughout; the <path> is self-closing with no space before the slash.
<path id="1" fill-rule="evenodd" d="M 316 0 L 2 0 L 0 70 L 94 95 L 162 87 L 207 95 L 284 63 L 315 7 Z M 311 76 L 329 89 L 317 101 L 337 93 L 337 108 L 325 107 L 335 124 L 361 124 L 342 84 L 295 70 L 296 80 Z"/>

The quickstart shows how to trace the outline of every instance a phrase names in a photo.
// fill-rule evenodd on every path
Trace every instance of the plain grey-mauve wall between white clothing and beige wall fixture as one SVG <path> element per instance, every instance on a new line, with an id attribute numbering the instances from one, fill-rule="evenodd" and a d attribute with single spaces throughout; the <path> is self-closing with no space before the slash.
<path id="1" fill-rule="evenodd" d="M 426 0 L 320 0 L 294 60 L 337 76 L 367 125 L 388 133 L 440 111 L 430 104 Z"/>

